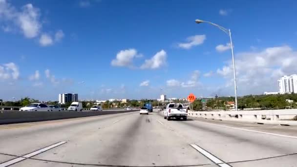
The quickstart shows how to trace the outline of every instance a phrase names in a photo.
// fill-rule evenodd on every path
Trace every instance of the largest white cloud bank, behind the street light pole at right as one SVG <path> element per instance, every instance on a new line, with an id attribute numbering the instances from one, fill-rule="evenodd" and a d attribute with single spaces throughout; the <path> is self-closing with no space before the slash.
<path id="1" fill-rule="evenodd" d="M 276 80 L 297 71 L 297 52 L 287 45 L 242 52 L 236 54 L 235 58 L 238 89 L 243 94 L 277 91 Z M 226 78 L 226 87 L 233 85 L 231 60 L 216 72 Z"/>

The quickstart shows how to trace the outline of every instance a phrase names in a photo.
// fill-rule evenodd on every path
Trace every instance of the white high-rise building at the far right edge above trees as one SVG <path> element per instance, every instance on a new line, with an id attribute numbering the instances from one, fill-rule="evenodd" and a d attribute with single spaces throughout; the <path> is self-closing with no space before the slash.
<path id="1" fill-rule="evenodd" d="M 297 93 L 297 74 L 282 76 L 277 80 L 277 86 L 280 93 Z"/>

